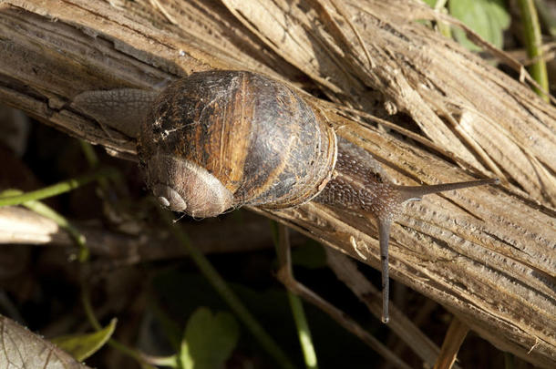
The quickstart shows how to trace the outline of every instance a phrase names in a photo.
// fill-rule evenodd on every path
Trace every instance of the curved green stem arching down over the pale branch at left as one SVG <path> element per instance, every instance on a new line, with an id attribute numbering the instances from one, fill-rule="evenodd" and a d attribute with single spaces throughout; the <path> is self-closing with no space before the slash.
<path id="1" fill-rule="evenodd" d="M 0 192 L 0 198 L 20 196 L 23 193 L 24 192 L 21 190 L 4 190 Z M 69 221 L 67 221 L 66 218 L 57 213 L 56 210 L 51 209 L 40 201 L 30 200 L 24 202 L 22 205 L 29 210 L 35 211 L 37 214 L 42 215 L 45 218 L 54 220 L 54 222 L 57 223 L 58 227 L 67 231 L 71 238 L 73 238 L 73 240 L 76 242 L 77 247 L 79 248 L 77 260 L 80 262 L 88 260 L 89 251 L 86 244 L 85 236 L 79 230 L 77 230 L 77 228 L 74 227 Z"/>

